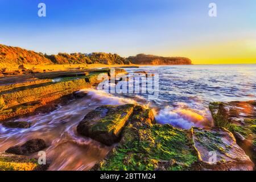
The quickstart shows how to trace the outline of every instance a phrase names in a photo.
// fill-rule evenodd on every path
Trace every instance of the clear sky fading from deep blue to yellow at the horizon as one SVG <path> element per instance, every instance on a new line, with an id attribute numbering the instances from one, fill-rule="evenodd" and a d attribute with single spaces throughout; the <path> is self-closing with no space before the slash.
<path id="1" fill-rule="evenodd" d="M 38 4 L 46 4 L 46 17 Z M 216 3 L 217 17 L 208 15 Z M 0 44 L 36 52 L 256 63 L 255 0 L 0 0 Z"/>

